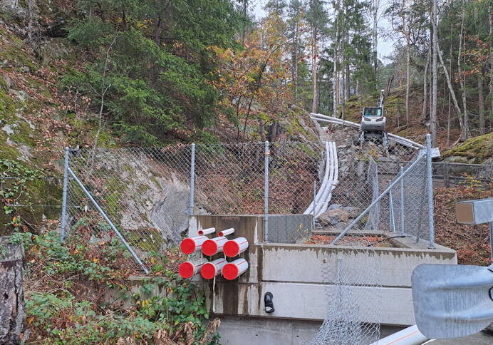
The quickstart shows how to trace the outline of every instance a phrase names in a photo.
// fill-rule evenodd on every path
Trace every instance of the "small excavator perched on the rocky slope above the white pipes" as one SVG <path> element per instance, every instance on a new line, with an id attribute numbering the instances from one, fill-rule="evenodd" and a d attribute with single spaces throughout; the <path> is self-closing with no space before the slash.
<path id="1" fill-rule="evenodd" d="M 380 99 L 376 107 L 365 107 L 361 111 L 360 143 L 371 138 L 380 138 L 385 150 L 388 149 L 388 137 L 385 130 L 386 118 L 383 115 L 383 103 L 385 101 L 385 90 L 380 91 Z"/>

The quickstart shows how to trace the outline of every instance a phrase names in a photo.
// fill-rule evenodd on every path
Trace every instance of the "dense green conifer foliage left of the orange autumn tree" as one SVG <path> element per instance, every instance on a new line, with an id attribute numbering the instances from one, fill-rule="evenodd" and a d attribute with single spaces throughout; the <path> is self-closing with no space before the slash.
<path id="1" fill-rule="evenodd" d="M 86 0 L 78 10 L 68 38 L 94 62 L 63 85 L 85 93 L 124 142 L 157 145 L 214 122 L 219 92 L 207 48 L 234 45 L 239 14 L 231 1 Z"/>

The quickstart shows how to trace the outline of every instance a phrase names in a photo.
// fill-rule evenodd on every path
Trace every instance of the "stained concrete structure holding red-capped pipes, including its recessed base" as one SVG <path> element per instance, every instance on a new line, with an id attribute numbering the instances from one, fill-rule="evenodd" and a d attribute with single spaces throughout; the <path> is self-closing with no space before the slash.
<path id="1" fill-rule="evenodd" d="M 239 279 L 227 281 L 217 278 L 213 286 L 212 281 L 196 278 L 206 292 L 207 304 L 212 314 L 224 319 L 221 331 L 223 340 L 227 340 L 228 334 L 242 323 L 253 327 L 251 330 L 256 329 L 256 324 L 264 324 L 249 336 L 246 336 L 249 334 L 246 332 L 244 344 L 291 344 L 289 341 L 269 342 L 270 337 L 277 339 L 276 334 L 283 333 L 286 329 L 290 330 L 286 333 L 291 334 L 289 339 L 301 337 L 306 340 L 306 334 L 313 336 L 331 303 L 328 296 L 336 289 L 338 258 L 349 259 L 355 264 L 364 262 L 364 269 L 376 264 L 375 260 L 368 257 L 370 251 L 378 255 L 380 277 L 372 277 L 370 279 L 374 279 L 373 282 L 365 282 L 366 285 L 375 285 L 374 287 L 352 287 L 357 297 L 355 303 L 363 311 L 361 321 L 380 321 L 383 325 L 400 327 L 415 324 L 410 279 L 412 270 L 423 263 L 457 264 L 454 250 L 440 245 L 436 249 L 428 249 L 425 241 L 415 244 L 415 237 L 393 238 L 393 247 L 371 249 L 328 244 L 262 243 L 262 220 L 262 216 L 190 217 L 189 236 L 196 236 L 197 231 L 202 228 L 234 227 L 235 236 L 246 237 L 250 243 L 249 249 L 241 254 L 249 262 L 249 270 Z M 379 235 L 391 237 L 393 234 Z M 363 294 L 362 289 L 380 289 L 379 293 L 386 302 L 382 319 L 371 319 L 371 313 L 365 315 L 363 295 L 368 294 Z M 264 311 L 266 292 L 274 295 L 275 311 L 272 314 Z M 360 299 L 358 294 L 362 295 Z M 264 332 L 264 338 L 259 335 L 260 331 Z M 387 329 L 384 333 L 392 331 L 395 329 Z"/>

